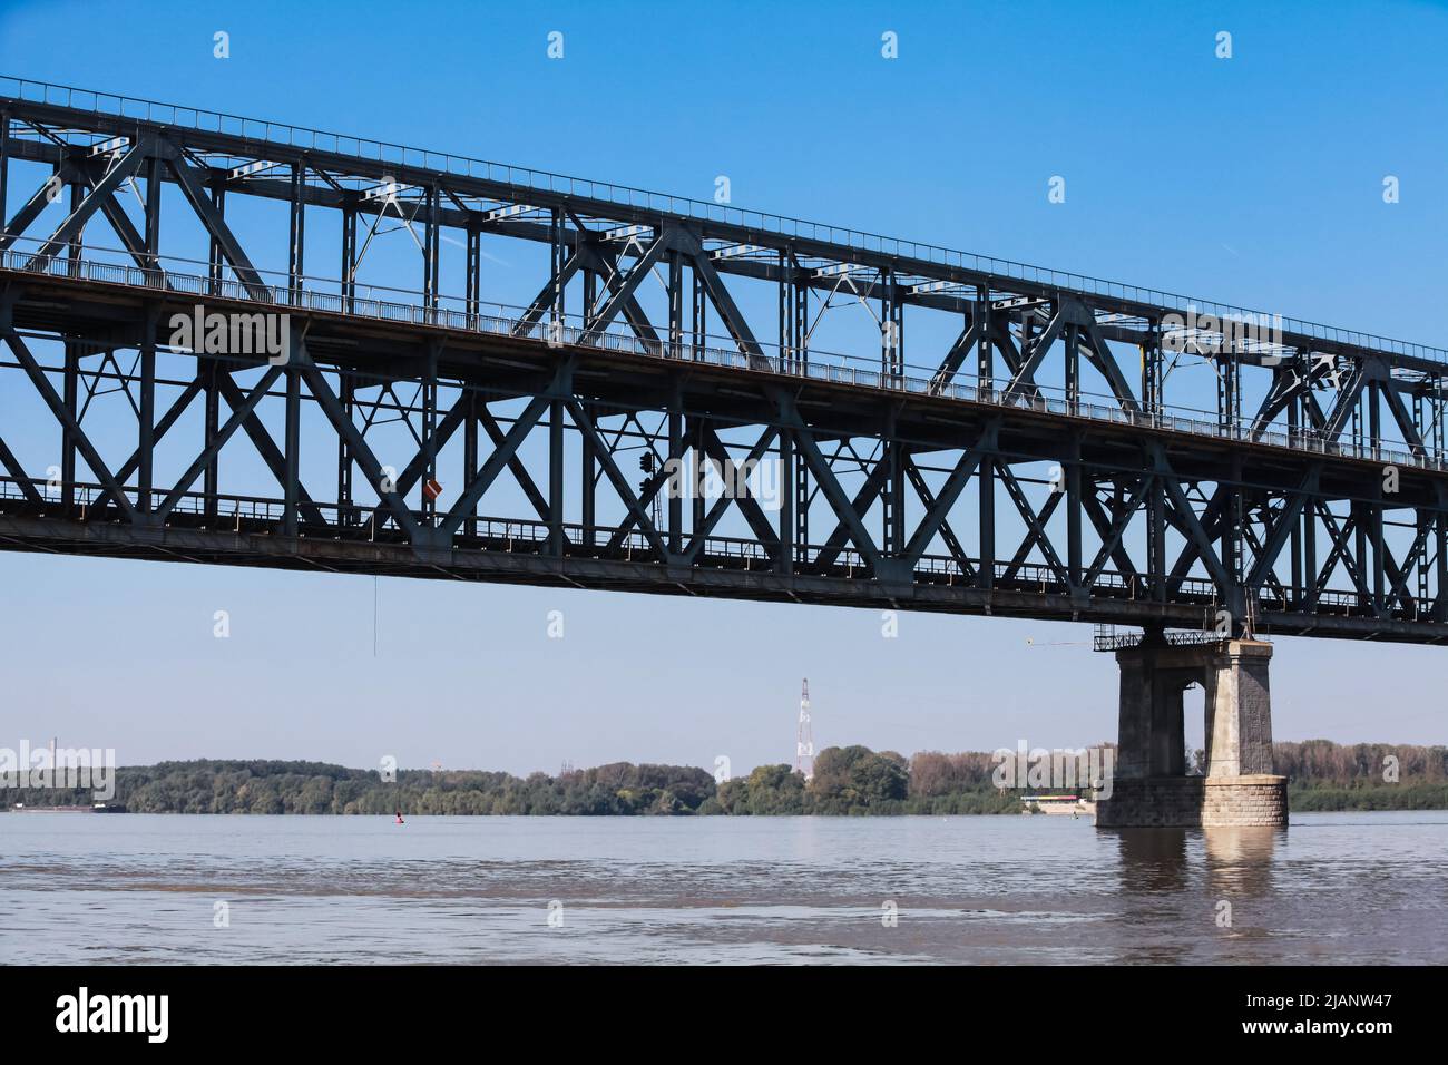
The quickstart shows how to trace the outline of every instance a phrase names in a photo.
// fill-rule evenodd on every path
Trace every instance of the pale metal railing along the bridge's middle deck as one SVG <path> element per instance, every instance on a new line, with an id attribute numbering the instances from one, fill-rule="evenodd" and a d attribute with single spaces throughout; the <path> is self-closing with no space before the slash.
<path id="1" fill-rule="evenodd" d="M 1064 390 L 1051 385 L 1034 385 L 1034 394 L 1022 391 L 1008 396 L 995 383 L 986 384 L 979 378 L 960 375 L 959 380 L 938 384 L 933 377 L 888 374 L 880 369 L 872 369 L 862 359 L 837 352 L 811 349 L 805 358 L 796 358 L 789 352 L 782 356 L 776 345 L 765 343 L 760 345 L 763 354 L 753 354 L 743 352 L 737 346 L 711 346 L 707 342 L 692 343 L 688 339 L 652 342 L 623 332 L 626 326 L 620 325 L 598 332 L 594 327 L 586 327 L 578 316 L 571 316 L 575 325 L 569 325 L 569 317 L 533 322 L 527 317 L 526 309 L 507 307 L 504 304 L 479 304 L 479 307 L 487 306 L 489 312 L 495 313 L 482 313 L 481 309 L 427 307 L 378 298 L 366 294 L 371 290 L 361 287 L 359 291 L 362 294 L 339 294 L 317 291 L 314 288 L 271 285 L 265 281 L 201 277 L 164 268 L 77 259 L 67 255 L 38 255 L 17 248 L 10 248 L 0 254 L 0 270 L 43 274 L 52 278 L 91 284 L 123 285 L 127 288 L 161 288 L 198 298 L 210 297 L 256 303 L 277 307 L 282 312 L 310 310 L 348 317 L 530 339 L 550 346 L 585 346 L 628 355 L 694 361 L 730 369 L 783 374 L 856 388 L 1035 410 L 1045 414 L 1080 417 L 1141 429 L 1161 429 L 1215 439 L 1242 440 L 1319 455 L 1370 459 L 1399 467 L 1423 469 L 1445 469 L 1448 467 L 1448 456 L 1436 448 L 1409 448 L 1405 451 L 1406 445 L 1393 446 L 1396 442 L 1389 440 L 1338 440 L 1306 427 L 1297 427 L 1290 432 L 1253 429 L 1247 420 L 1224 423 L 1216 414 L 1184 407 L 1160 407 L 1151 412 L 1134 410 L 1124 407 L 1115 398 L 1100 396 L 1080 394 L 1072 398 Z M 705 341 L 712 339 L 723 341 L 724 338 L 705 338 Z M 775 351 L 775 354 L 769 354 L 770 351 Z"/>

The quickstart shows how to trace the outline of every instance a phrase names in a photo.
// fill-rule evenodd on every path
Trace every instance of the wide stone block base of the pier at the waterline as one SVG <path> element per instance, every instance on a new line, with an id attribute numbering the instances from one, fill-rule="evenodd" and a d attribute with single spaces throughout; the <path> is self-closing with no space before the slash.
<path id="1" fill-rule="evenodd" d="M 1225 827 L 1287 823 L 1287 778 L 1156 777 L 1118 780 L 1096 803 L 1096 827 Z"/>

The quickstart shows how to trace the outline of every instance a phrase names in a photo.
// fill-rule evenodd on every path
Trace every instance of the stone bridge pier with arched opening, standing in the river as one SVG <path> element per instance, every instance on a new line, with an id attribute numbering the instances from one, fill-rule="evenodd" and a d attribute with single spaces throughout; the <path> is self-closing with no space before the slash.
<path id="1" fill-rule="evenodd" d="M 1098 827 L 1287 823 L 1287 778 L 1273 772 L 1271 645 L 1226 639 L 1116 652 L 1121 723 L 1111 798 Z M 1206 775 L 1187 777 L 1182 693 L 1206 691 Z"/>

